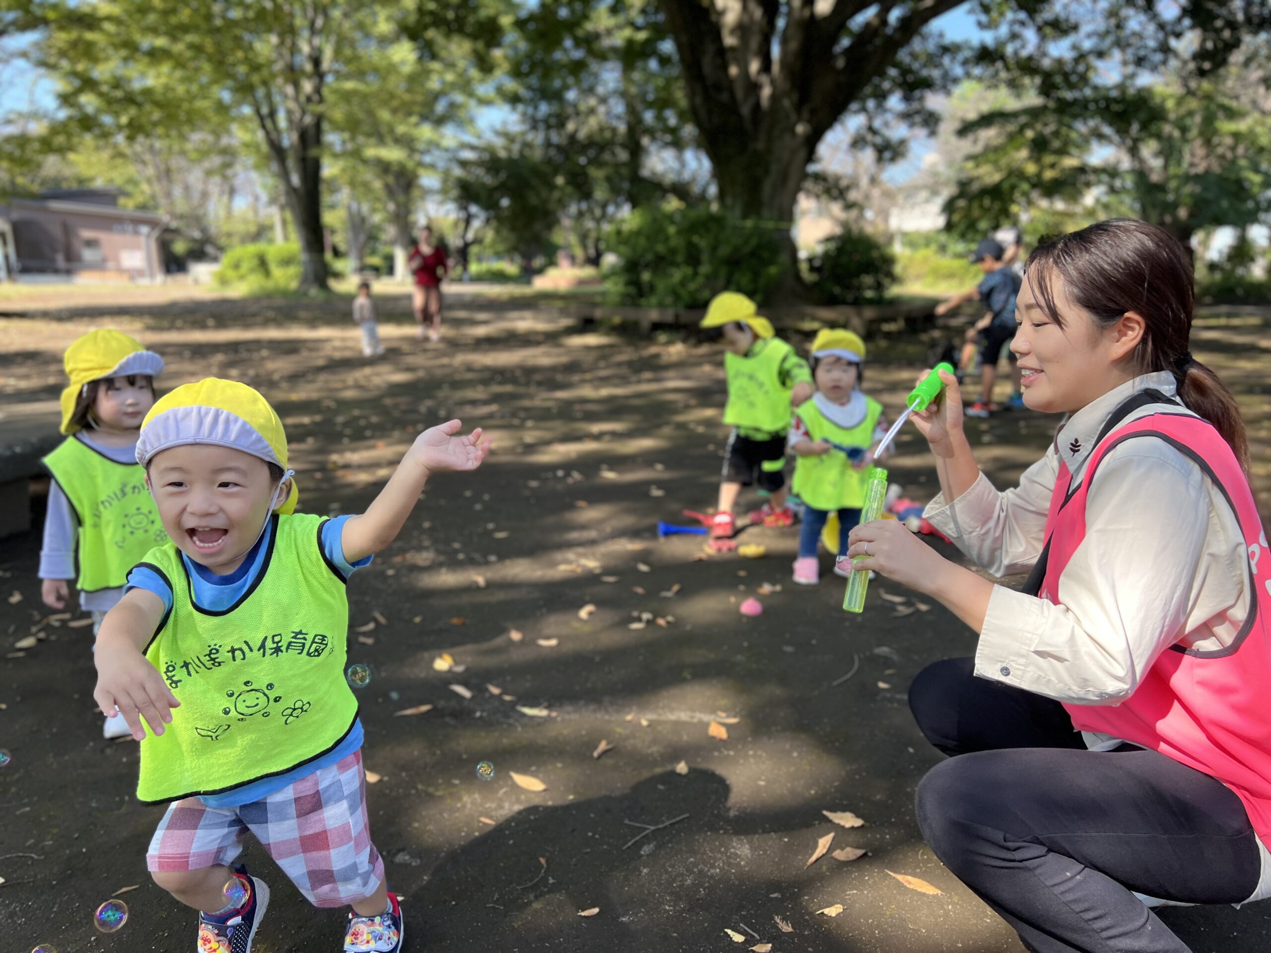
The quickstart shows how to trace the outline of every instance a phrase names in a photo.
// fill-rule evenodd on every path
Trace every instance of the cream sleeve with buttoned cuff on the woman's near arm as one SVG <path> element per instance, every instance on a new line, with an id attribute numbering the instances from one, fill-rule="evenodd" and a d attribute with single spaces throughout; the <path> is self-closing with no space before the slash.
<path id="1" fill-rule="evenodd" d="M 1085 537 L 1059 578 L 1061 605 L 996 586 L 975 673 L 1068 701 L 1130 696 L 1186 634 L 1205 572 L 1205 476 L 1163 441 L 1115 447 L 1085 503 Z"/>

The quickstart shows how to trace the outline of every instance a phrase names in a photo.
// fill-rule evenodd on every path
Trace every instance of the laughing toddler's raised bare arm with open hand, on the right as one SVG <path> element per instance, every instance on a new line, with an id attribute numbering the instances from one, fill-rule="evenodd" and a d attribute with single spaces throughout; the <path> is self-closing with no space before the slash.
<path id="1" fill-rule="evenodd" d="M 346 560 L 356 563 L 366 559 L 397 539 L 431 474 L 480 466 L 489 452 L 489 443 L 480 442 L 480 427 L 466 437 L 456 437 L 460 427 L 459 421 L 449 421 L 414 438 L 366 512 L 344 522 L 339 541 Z"/>

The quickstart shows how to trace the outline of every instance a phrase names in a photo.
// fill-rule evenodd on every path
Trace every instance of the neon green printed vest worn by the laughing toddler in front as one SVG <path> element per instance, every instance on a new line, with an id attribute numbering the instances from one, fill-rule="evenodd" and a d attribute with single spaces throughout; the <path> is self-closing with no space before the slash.
<path id="1" fill-rule="evenodd" d="M 180 701 L 141 742 L 137 797 L 220 794 L 332 751 L 357 718 L 344 681 L 348 600 L 313 513 L 275 516 L 255 585 L 231 607 L 193 604 L 179 550 L 145 565 L 172 585 L 172 611 L 146 647 Z"/>

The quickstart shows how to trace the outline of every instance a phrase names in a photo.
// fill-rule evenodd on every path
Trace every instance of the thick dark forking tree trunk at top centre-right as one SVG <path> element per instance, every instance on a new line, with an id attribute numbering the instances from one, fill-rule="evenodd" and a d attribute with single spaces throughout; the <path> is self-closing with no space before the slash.
<path id="1" fill-rule="evenodd" d="M 658 3 L 721 205 L 774 229 L 793 263 L 794 201 L 821 137 L 919 29 L 966 0 Z"/>

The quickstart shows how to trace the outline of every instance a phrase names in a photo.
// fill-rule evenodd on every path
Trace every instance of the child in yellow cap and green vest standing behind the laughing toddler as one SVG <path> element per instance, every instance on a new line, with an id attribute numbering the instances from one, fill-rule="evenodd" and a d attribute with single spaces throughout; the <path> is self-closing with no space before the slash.
<path id="1" fill-rule="evenodd" d="M 93 633 L 123 596 L 133 567 L 167 539 L 137 465 L 141 421 L 155 402 L 163 358 L 117 330 L 94 330 L 66 349 L 61 432 L 67 435 L 43 464 L 52 475 L 39 553 L 41 596 L 66 609 L 70 581 L 80 609 L 93 614 Z M 118 715 L 102 733 L 122 738 Z"/>

